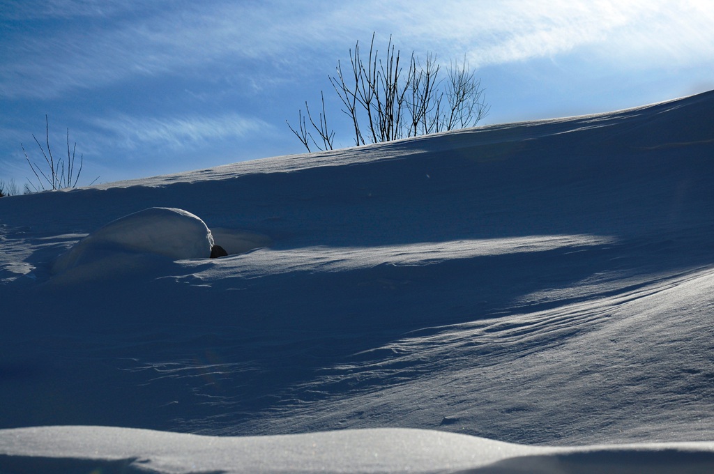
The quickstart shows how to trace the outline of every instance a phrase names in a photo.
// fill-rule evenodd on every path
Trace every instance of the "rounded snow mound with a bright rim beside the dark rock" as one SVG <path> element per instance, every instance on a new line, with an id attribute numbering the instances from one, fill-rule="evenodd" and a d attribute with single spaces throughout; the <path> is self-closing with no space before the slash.
<path id="1" fill-rule="evenodd" d="M 151 253 L 174 260 L 208 258 L 213 236 L 206 223 L 177 208 L 148 208 L 112 221 L 57 258 L 53 273 L 116 253 Z"/>

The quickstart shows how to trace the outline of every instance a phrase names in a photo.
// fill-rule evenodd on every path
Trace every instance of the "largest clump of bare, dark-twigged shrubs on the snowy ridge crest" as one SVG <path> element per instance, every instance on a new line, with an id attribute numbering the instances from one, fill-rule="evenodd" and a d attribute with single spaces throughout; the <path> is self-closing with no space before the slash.
<path id="1" fill-rule="evenodd" d="M 373 34 L 366 56 L 357 41 L 354 51 L 349 51 L 349 65 L 343 69 L 338 61 L 336 75 L 328 76 L 343 104 L 342 112 L 351 121 L 355 145 L 475 126 L 488 114 L 481 81 L 466 60 L 452 61 L 446 79 L 440 79 L 441 66 L 433 54 L 427 54 L 422 64 L 412 52 L 404 66 L 391 36 L 384 59 L 374 47 L 374 38 Z M 321 97 L 318 120 L 306 102 L 306 115 L 298 111 L 299 131 L 288 122 L 308 151 L 333 148 L 335 132 L 328 128 L 322 93 Z"/>

